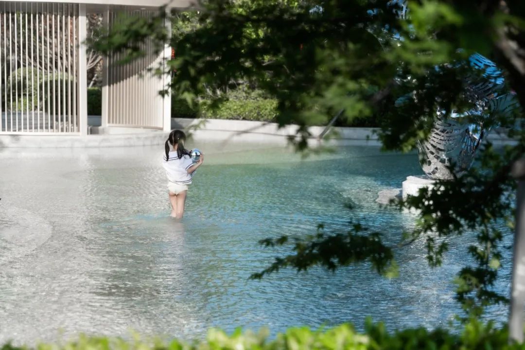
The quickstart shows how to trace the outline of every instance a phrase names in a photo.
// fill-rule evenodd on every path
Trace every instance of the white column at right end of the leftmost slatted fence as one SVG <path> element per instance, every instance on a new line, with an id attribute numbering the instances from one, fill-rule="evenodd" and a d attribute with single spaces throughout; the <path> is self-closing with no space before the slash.
<path id="1" fill-rule="evenodd" d="M 80 135 L 88 134 L 88 77 L 86 57 L 86 5 L 79 4 L 78 10 L 78 114 Z"/>

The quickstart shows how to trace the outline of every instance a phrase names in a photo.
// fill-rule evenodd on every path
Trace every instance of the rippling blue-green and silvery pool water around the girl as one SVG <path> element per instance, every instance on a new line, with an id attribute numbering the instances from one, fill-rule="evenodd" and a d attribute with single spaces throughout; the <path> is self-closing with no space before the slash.
<path id="1" fill-rule="evenodd" d="M 354 146 L 301 159 L 281 146 L 198 146 L 205 165 L 182 223 L 168 217 L 162 147 L 0 149 L 0 342 L 131 329 L 201 338 L 215 326 L 275 334 L 347 321 L 362 329 L 366 316 L 391 330 L 446 327 L 460 312 L 452 280 L 468 261 L 469 235 L 451 240 L 437 269 L 424 240 L 397 248 L 393 280 L 368 264 L 248 279 L 285 252 L 258 240 L 311 234 L 320 223 L 344 231 L 360 221 L 398 243 L 414 216 L 375 199 L 421 174 L 415 154 Z M 504 257 L 497 288 L 508 292 L 510 251 Z M 506 314 L 501 306 L 489 316 Z"/>

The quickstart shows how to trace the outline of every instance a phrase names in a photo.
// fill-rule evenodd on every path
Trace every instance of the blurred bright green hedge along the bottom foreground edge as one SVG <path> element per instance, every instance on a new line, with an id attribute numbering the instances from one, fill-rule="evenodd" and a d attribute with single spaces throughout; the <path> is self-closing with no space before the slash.
<path id="1" fill-rule="evenodd" d="M 259 333 L 237 330 L 232 335 L 218 330 L 208 332 L 201 342 L 179 340 L 140 340 L 81 336 L 69 343 L 40 344 L 38 350 L 364 350 L 364 349 L 520 349 L 524 344 L 509 344 L 507 331 L 471 321 L 463 330 L 450 333 L 444 330 L 427 331 L 425 328 L 410 328 L 388 333 L 383 324 L 367 323 L 365 332 L 356 332 L 350 324 L 329 330 L 312 331 L 308 327 L 289 328 L 285 333 L 270 339 L 265 330 Z M 4 345 L 2 350 L 24 350 L 29 348 Z"/>

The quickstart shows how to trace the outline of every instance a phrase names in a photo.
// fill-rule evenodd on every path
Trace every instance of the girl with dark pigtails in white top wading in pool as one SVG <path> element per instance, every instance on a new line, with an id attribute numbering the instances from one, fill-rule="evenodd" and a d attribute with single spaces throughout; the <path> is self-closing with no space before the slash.
<path id="1" fill-rule="evenodd" d="M 204 157 L 193 163 L 190 151 L 184 148 L 186 135 L 180 130 L 173 130 L 165 143 L 166 154 L 162 165 L 166 169 L 167 189 L 171 201 L 171 216 L 180 220 L 184 216 L 184 203 L 188 185 L 192 183 L 192 174 L 202 165 Z"/>

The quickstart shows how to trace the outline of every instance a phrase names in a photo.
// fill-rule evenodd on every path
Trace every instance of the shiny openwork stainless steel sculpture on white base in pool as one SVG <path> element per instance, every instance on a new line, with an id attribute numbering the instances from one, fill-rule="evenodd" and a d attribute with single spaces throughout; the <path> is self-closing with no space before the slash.
<path id="1" fill-rule="evenodd" d="M 428 140 L 417 144 L 421 167 L 432 179 L 451 179 L 467 171 L 489 131 L 484 125 L 487 118 L 511 113 L 518 108 L 512 93 L 502 93 L 502 73 L 492 61 L 479 54 L 472 55 L 469 61 L 482 70 L 484 77 L 466 79 L 465 98 L 474 102 L 476 107 L 461 115 L 451 113 L 448 119 L 444 119 L 444 113 L 438 111 Z"/>

